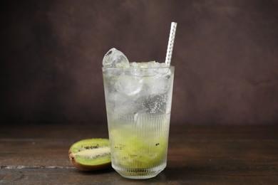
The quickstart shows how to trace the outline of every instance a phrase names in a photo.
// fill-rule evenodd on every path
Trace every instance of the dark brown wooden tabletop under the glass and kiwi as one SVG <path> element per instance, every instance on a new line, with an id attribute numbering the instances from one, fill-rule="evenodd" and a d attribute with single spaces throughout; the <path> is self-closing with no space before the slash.
<path id="1" fill-rule="evenodd" d="M 0 129 L 0 184 L 277 184 L 278 125 L 171 125 L 168 166 L 147 180 L 112 168 L 82 172 L 68 149 L 88 137 L 108 137 L 99 125 L 10 125 Z"/>

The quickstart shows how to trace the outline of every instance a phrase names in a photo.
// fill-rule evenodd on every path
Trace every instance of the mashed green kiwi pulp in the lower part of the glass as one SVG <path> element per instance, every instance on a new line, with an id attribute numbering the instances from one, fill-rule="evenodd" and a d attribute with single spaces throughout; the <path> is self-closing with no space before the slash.
<path id="1" fill-rule="evenodd" d="M 158 166 L 166 157 L 167 142 L 163 137 L 153 140 L 138 138 L 136 135 L 122 137 L 113 135 L 112 149 L 114 162 L 118 166 L 133 169 L 146 169 Z"/>

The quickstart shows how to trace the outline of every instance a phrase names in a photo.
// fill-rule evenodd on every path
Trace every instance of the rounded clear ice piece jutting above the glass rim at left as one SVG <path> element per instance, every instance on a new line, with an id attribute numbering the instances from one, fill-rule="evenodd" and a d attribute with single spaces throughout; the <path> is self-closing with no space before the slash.
<path id="1" fill-rule="evenodd" d="M 129 68 L 129 61 L 121 51 L 112 48 L 103 57 L 103 68 Z"/>

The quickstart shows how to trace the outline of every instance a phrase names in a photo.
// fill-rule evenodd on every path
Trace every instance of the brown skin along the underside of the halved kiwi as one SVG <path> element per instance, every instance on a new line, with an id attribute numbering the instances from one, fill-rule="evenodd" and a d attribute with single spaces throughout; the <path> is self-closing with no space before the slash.
<path id="1" fill-rule="evenodd" d="M 99 165 L 86 165 L 86 164 L 80 164 L 76 162 L 76 158 L 73 156 L 73 152 L 71 152 L 71 149 L 68 150 L 68 157 L 70 159 L 71 164 L 75 166 L 77 169 L 80 169 L 81 171 L 94 171 L 98 169 L 107 169 L 111 166 L 111 162 L 105 163 L 105 164 L 99 164 Z"/>

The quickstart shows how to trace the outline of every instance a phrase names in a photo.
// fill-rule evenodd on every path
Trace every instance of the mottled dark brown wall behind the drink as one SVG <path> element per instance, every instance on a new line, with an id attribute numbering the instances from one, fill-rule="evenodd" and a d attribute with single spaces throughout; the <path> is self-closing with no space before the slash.
<path id="1" fill-rule="evenodd" d="M 172 124 L 278 123 L 277 0 L 2 1 L 1 124 L 105 123 L 110 48 L 163 62 Z"/>

